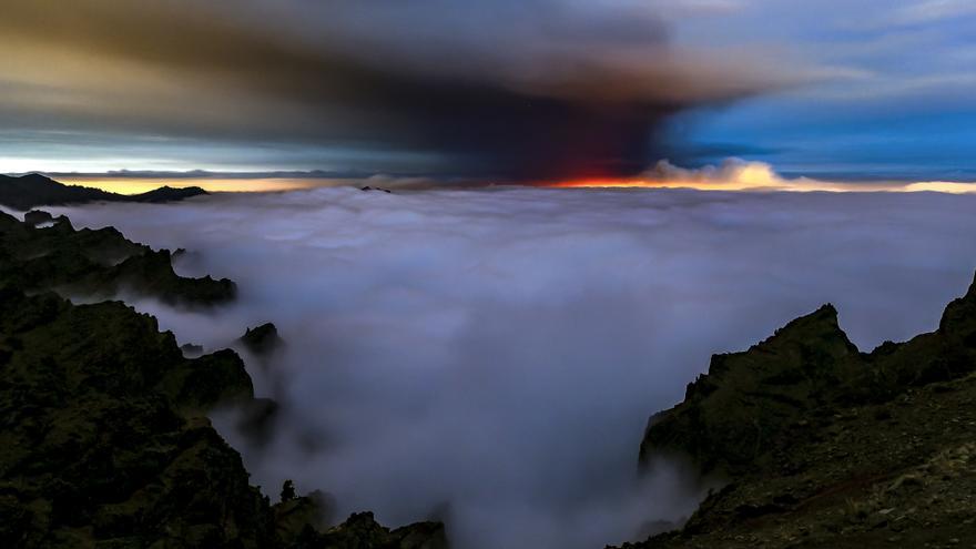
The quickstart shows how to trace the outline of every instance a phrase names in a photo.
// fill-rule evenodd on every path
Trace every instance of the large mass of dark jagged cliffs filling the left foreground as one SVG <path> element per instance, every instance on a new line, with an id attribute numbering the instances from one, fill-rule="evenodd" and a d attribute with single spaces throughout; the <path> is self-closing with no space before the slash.
<path id="1" fill-rule="evenodd" d="M 89 254 L 143 250 L 113 230 L 48 231 L 0 217 L 0 547 L 445 547 L 440 523 L 390 531 L 356 515 L 323 528 L 315 494 L 271 505 L 205 417 L 254 401 L 241 358 L 186 358 L 151 316 L 43 291 L 64 278 L 26 276 L 40 257 L 101 277 Z"/>

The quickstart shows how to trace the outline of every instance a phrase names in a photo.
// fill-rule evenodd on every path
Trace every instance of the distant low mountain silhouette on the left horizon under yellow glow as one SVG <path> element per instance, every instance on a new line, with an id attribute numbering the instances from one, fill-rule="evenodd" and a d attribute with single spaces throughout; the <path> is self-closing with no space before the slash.
<path id="1" fill-rule="evenodd" d="M 16 210 L 35 206 L 82 204 L 85 202 L 176 202 L 207 194 L 199 186 L 173 189 L 162 186 L 142 194 L 118 194 L 78 185 L 65 185 L 44 175 L 32 173 L 20 177 L 0 175 L 0 204 Z"/>

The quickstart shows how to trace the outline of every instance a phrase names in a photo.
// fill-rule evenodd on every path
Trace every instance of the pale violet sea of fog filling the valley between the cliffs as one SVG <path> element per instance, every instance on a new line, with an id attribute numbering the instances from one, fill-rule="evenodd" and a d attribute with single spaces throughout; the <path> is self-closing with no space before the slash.
<path id="1" fill-rule="evenodd" d="M 138 306 L 181 343 L 277 324 L 248 368 L 284 405 L 254 481 L 338 516 L 445 518 L 460 549 L 597 549 L 694 507 L 636 482 L 648 416 L 712 353 L 825 302 L 870 349 L 937 326 L 976 267 L 976 197 L 322 189 L 54 209 L 240 284 L 211 314 Z"/>

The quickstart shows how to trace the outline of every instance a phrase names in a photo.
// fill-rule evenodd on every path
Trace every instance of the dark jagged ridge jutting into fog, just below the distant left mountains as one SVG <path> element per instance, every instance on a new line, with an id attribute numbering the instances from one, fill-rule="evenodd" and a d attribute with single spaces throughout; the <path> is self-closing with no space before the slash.
<path id="1" fill-rule="evenodd" d="M 55 221 L 37 228 L 0 213 L 0 284 L 103 298 L 131 292 L 186 306 L 218 305 L 236 295 L 226 278 L 179 276 L 166 250 L 135 244 L 111 227 L 75 231 L 68 217 Z"/>

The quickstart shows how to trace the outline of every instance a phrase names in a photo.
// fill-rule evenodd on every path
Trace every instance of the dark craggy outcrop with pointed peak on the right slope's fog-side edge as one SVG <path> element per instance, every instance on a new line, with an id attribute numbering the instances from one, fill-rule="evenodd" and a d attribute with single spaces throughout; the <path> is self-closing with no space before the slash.
<path id="1" fill-rule="evenodd" d="M 863 359 L 832 306 L 793 321 L 745 353 L 712 357 L 682 404 L 651 418 L 641 462 L 689 455 L 703 472 L 738 474 L 769 461 L 792 427 L 837 396 Z"/>

